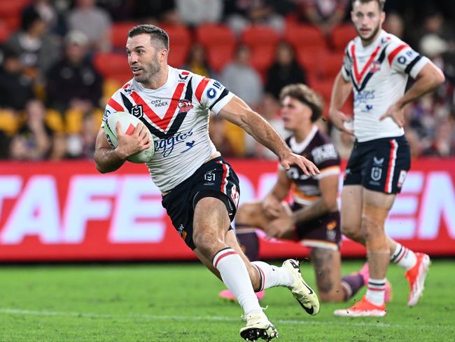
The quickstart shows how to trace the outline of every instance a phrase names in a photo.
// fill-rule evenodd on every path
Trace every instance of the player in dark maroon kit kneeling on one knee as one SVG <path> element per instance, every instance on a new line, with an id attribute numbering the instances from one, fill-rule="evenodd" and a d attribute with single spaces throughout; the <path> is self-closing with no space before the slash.
<path id="1" fill-rule="evenodd" d="M 337 203 L 340 159 L 330 138 L 318 129 L 323 102 L 304 84 L 284 87 L 280 93 L 281 118 L 292 135 L 286 139 L 290 150 L 311 160 L 321 171 L 316 177 L 304 175 L 298 167 L 279 167 L 276 184 L 261 201 L 244 203 L 237 210 L 236 234 L 250 260 L 258 260 L 259 242 L 254 228 L 267 236 L 293 240 L 311 247 L 321 301 L 347 301 L 368 280 L 368 266 L 341 277 L 341 230 Z M 283 202 L 292 190 L 293 203 Z M 261 261 L 254 261 L 260 267 Z M 263 292 L 256 295 L 262 299 Z M 228 290 L 221 298 L 234 300 Z"/>

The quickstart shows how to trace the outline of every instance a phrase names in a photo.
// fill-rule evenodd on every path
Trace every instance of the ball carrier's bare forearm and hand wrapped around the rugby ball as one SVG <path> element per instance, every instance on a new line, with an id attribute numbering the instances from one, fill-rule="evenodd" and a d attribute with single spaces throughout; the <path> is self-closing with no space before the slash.
<path id="1" fill-rule="evenodd" d="M 94 150 L 94 163 L 97 170 L 101 173 L 113 172 L 118 170 L 125 163 L 125 160 L 134 153 L 148 149 L 151 141 L 148 138 L 148 130 L 145 125 L 139 123 L 132 135 L 123 134 L 120 123 L 116 125 L 118 145 L 115 149 L 111 148 L 101 128 L 97 135 Z"/>

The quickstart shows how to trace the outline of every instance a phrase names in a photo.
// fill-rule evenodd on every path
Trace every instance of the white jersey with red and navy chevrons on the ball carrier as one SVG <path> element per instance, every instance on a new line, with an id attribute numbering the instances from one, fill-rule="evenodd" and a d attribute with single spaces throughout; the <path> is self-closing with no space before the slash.
<path id="1" fill-rule="evenodd" d="M 112 95 L 104 111 L 126 111 L 137 116 L 155 142 L 153 161 L 147 163 L 153 182 L 162 192 L 172 190 L 216 152 L 209 138 L 209 114 L 218 114 L 234 95 L 218 81 L 168 66 L 166 83 L 146 89 L 134 78 Z"/>

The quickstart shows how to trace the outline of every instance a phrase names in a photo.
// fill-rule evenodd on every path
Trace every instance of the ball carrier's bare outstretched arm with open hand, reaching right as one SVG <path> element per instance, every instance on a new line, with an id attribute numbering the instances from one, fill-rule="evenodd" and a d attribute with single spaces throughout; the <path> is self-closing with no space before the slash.
<path id="1" fill-rule="evenodd" d="M 274 152 L 286 170 L 289 169 L 290 165 L 295 164 L 302 169 L 305 175 L 311 174 L 315 176 L 319 173 L 316 165 L 307 158 L 292 153 L 276 130 L 239 97 L 232 97 L 218 114 L 243 128 L 260 144 Z"/>

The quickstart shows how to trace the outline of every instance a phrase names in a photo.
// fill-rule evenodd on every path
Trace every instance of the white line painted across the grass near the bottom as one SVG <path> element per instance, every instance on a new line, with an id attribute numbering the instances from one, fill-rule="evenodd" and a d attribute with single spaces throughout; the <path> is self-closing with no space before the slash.
<path id="1" fill-rule="evenodd" d="M 36 316 L 69 316 L 69 317 L 88 317 L 88 318 L 115 318 L 132 319 L 143 318 L 146 320 L 189 320 L 189 321 L 218 321 L 218 322 L 240 322 L 239 319 L 224 316 L 174 316 L 174 315 L 147 315 L 147 314 L 131 314 L 131 315 L 112 315 L 110 313 L 71 313 L 64 311 L 37 311 L 37 310 L 22 310 L 15 308 L 0 308 L 0 313 L 8 315 L 36 315 Z M 338 319 L 336 319 L 338 320 Z M 434 328 L 436 325 L 428 324 L 389 324 L 383 322 L 346 322 L 340 319 L 339 322 L 321 322 L 316 320 L 273 320 L 280 324 L 311 324 L 311 325 L 353 325 L 356 327 L 386 327 L 386 328 L 404 328 L 404 327 L 421 327 Z M 437 325 L 440 329 L 453 329 L 450 325 Z"/>

